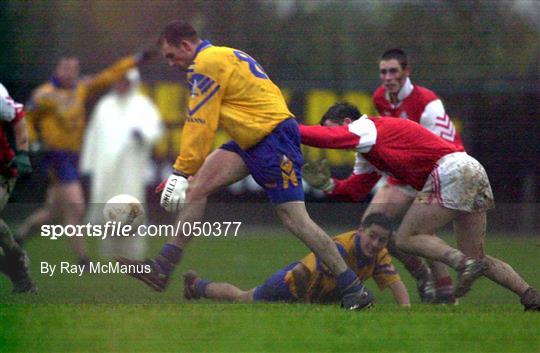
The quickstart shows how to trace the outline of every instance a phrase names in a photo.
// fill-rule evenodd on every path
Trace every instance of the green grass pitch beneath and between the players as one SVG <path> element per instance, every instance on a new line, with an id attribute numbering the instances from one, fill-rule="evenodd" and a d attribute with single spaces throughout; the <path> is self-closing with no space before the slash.
<path id="1" fill-rule="evenodd" d="M 538 240 L 498 236 L 487 250 L 538 288 Z M 161 243 L 152 243 L 152 254 Z M 458 306 L 414 305 L 414 285 L 401 271 L 411 309 L 399 308 L 388 291 L 368 282 L 378 305 L 357 313 L 337 305 L 191 303 L 181 297 L 180 274 L 187 268 L 242 288 L 260 284 L 306 253 L 292 236 L 195 241 L 164 293 L 122 275 L 46 277 L 39 274 L 40 261 L 72 260 L 66 242 L 36 238 L 27 248 L 40 293 L 11 295 L 0 277 L 0 352 L 540 352 L 540 315 L 524 313 L 517 296 L 486 279 Z"/>

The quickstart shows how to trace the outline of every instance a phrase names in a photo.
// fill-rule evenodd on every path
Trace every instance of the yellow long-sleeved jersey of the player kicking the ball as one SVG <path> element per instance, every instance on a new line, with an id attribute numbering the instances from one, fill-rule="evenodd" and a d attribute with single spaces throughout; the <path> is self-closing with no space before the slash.
<path id="1" fill-rule="evenodd" d="M 188 116 L 174 169 L 195 174 L 214 144 L 218 126 L 249 149 L 293 117 L 280 89 L 248 54 L 202 41 L 187 69 Z"/>

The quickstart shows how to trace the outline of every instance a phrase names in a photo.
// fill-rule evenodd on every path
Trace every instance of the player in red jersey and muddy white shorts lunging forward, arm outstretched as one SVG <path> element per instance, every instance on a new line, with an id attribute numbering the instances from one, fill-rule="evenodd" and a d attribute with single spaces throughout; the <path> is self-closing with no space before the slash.
<path id="1" fill-rule="evenodd" d="M 354 149 L 359 198 L 392 175 L 418 191 L 396 233 L 404 251 L 441 261 L 458 272 L 456 297 L 485 275 L 521 298 L 525 310 L 540 310 L 540 295 L 505 262 L 484 252 L 486 211 L 493 193 L 482 165 L 415 122 L 367 117 L 343 126 L 300 126 L 302 143 Z M 328 183 L 332 183 L 330 178 Z M 435 234 L 453 222 L 458 249 Z"/>

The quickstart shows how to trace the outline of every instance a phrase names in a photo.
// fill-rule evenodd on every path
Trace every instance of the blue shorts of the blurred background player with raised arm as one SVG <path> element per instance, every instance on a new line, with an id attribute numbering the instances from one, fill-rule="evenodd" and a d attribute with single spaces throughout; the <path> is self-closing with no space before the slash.
<path id="1" fill-rule="evenodd" d="M 41 160 L 41 168 L 50 178 L 66 184 L 79 180 L 79 155 L 76 152 L 51 150 Z"/>

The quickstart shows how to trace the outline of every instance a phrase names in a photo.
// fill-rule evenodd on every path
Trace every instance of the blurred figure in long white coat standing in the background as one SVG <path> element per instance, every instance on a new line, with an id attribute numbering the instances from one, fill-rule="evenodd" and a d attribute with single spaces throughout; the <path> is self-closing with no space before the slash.
<path id="1" fill-rule="evenodd" d="M 147 180 L 154 170 L 151 152 L 163 127 L 159 111 L 139 86 L 139 71 L 132 69 L 98 101 L 90 117 L 80 169 L 91 175 L 87 214 L 91 224 L 103 222 L 103 205 L 115 195 L 129 194 L 145 202 Z M 143 237 L 113 237 L 101 243 L 104 256 L 142 258 L 146 252 Z"/>

